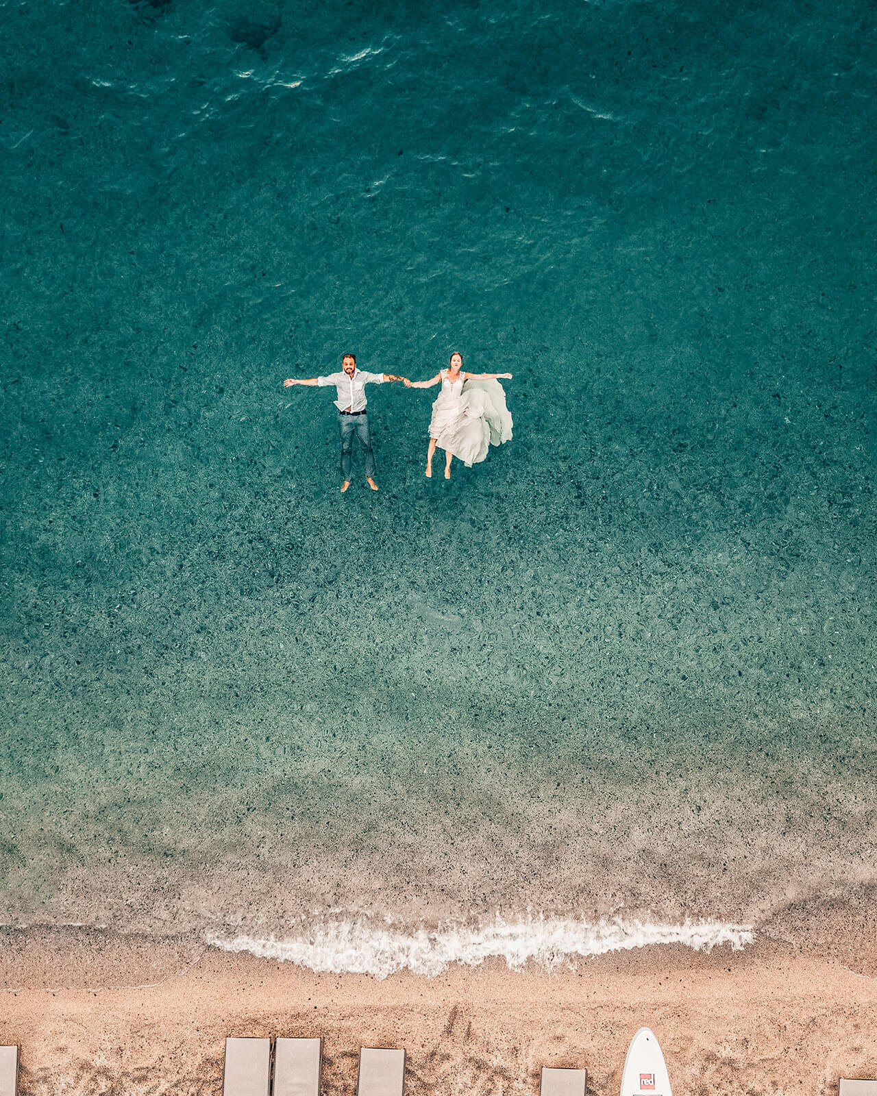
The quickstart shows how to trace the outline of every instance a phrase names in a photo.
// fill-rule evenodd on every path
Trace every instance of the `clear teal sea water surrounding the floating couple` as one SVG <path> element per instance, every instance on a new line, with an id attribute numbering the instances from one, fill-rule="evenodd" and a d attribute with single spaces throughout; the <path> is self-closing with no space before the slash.
<path id="1" fill-rule="evenodd" d="M 875 881 L 867 5 L 0 11 L 2 920 L 398 954 Z M 342 500 L 280 381 L 454 349 L 514 441 L 426 483 L 386 386 Z"/>

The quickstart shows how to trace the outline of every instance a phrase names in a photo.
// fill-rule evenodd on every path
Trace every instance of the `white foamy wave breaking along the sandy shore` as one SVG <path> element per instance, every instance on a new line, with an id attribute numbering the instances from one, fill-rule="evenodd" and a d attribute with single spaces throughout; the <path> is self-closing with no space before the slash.
<path id="1" fill-rule="evenodd" d="M 652 924 L 565 918 L 497 920 L 476 928 L 444 925 L 413 933 L 364 921 L 333 921 L 283 938 L 240 935 L 224 939 L 213 934 L 207 937 L 208 944 L 225 951 L 250 951 L 265 959 L 294 962 L 317 973 L 374 974 L 379 979 L 402 970 L 432 978 L 451 963 L 477 967 L 493 958 L 504 959 L 512 970 L 521 970 L 528 962 L 555 970 L 586 956 L 629 951 L 653 944 L 683 944 L 697 951 L 709 951 L 722 944 L 739 950 L 752 940 L 751 925 L 719 921 Z"/>

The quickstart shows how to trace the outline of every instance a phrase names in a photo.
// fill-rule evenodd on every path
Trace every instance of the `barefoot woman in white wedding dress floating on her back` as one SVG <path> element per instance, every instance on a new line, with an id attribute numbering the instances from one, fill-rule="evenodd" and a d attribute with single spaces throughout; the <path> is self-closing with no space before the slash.
<path id="1" fill-rule="evenodd" d="M 406 388 L 442 390 L 432 406 L 430 448 L 426 475 L 432 476 L 435 446 L 445 450 L 445 479 L 451 479 L 454 457 L 467 468 L 483 460 L 491 445 L 501 445 L 512 436 L 512 416 L 505 407 L 505 392 L 499 378 L 512 379 L 511 373 L 464 373 L 463 357 L 451 355 L 451 364 L 430 380 L 406 380 Z"/>

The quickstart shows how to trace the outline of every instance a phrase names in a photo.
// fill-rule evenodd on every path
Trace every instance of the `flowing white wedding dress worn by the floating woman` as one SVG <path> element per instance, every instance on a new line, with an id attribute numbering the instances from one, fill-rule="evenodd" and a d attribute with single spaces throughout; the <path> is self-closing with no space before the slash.
<path id="1" fill-rule="evenodd" d="M 442 369 L 442 390 L 432 406 L 430 437 L 467 468 L 483 460 L 491 445 L 511 441 L 512 416 L 499 380 L 456 380 Z"/>

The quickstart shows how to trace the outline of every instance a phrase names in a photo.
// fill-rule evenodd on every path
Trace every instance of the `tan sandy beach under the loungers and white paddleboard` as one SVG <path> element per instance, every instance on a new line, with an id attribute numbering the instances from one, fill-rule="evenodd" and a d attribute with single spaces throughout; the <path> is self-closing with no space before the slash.
<path id="1" fill-rule="evenodd" d="M 322 1036 L 324 1096 L 355 1092 L 361 1046 L 406 1048 L 408 1096 L 535 1096 L 543 1065 L 585 1068 L 589 1094 L 611 1094 L 642 1025 L 676 1096 L 823 1094 L 877 1075 L 870 934 L 384 981 L 76 931 L 7 932 L 0 960 L 0 1042 L 21 1046 L 21 1096 L 218 1096 L 227 1035 Z"/>

